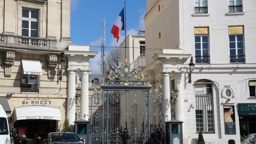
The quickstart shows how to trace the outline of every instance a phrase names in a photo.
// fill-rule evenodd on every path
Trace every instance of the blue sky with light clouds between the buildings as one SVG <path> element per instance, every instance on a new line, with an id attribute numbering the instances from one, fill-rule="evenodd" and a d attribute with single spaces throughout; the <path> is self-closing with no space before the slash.
<path id="1" fill-rule="evenodd" d="M 103 19 L 105 19 L 106 46 L 119 46 L 124 40 L 124 32 L 119 43 L 111 34 L 111 28 L 116 21 L 124 0 L 71 0 L 71 40 L 73 45 L 92 46 L 90 51 L 98 52 L 89 61 L 92 73 L 100 74 L 101 39 L 103 37 Z M 126 0 L 126 31 L 137 34 L 145 30 L 143 17 L 146 11 L 146 0 Z M 110 47 L 105 49 L 106 55 Z"/>

